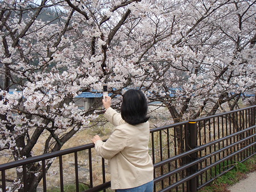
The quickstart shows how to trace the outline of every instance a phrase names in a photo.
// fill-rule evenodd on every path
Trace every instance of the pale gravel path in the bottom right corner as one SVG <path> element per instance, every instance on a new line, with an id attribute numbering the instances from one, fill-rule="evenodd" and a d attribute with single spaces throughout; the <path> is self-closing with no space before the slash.
<path id="1" fill-rule="evenodd" d="M 255 192 L 256 191 L 256 172 L 249 173 L 247 178 L 239 181 L 235 185 L 229 187 L 231 192 Z"/>

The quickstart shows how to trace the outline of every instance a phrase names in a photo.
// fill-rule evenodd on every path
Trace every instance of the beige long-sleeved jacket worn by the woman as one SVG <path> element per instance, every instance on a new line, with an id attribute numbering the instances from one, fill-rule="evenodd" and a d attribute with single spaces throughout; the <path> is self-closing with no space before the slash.
<path id="1" fill-rule="evenodd" d="M 117 127 L 106 142 L 98 140 L 95 149 L 98 155 L 110 161 L 111 188 L 129 189 L 152 181 L 149 123 L 132 126 L 113 108 L 108 108 L 104 116 Z"/>

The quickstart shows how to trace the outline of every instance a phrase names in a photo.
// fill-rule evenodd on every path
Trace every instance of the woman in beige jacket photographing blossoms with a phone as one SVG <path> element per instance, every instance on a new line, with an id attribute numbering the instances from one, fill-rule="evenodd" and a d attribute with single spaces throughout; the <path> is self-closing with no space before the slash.
<path id="1" fill-rule="evenodd" d="M 121 114 L 102 99 L 105 118 L 115 127 L 106 142 L 96 135 L 92 141 L 98 155 L 110 161 L 111 188 L 117 191 L 153 191 L 153 165 L 148 155 L 150 137 L 147 100 L 142 91 L 123 94 Z"/>

